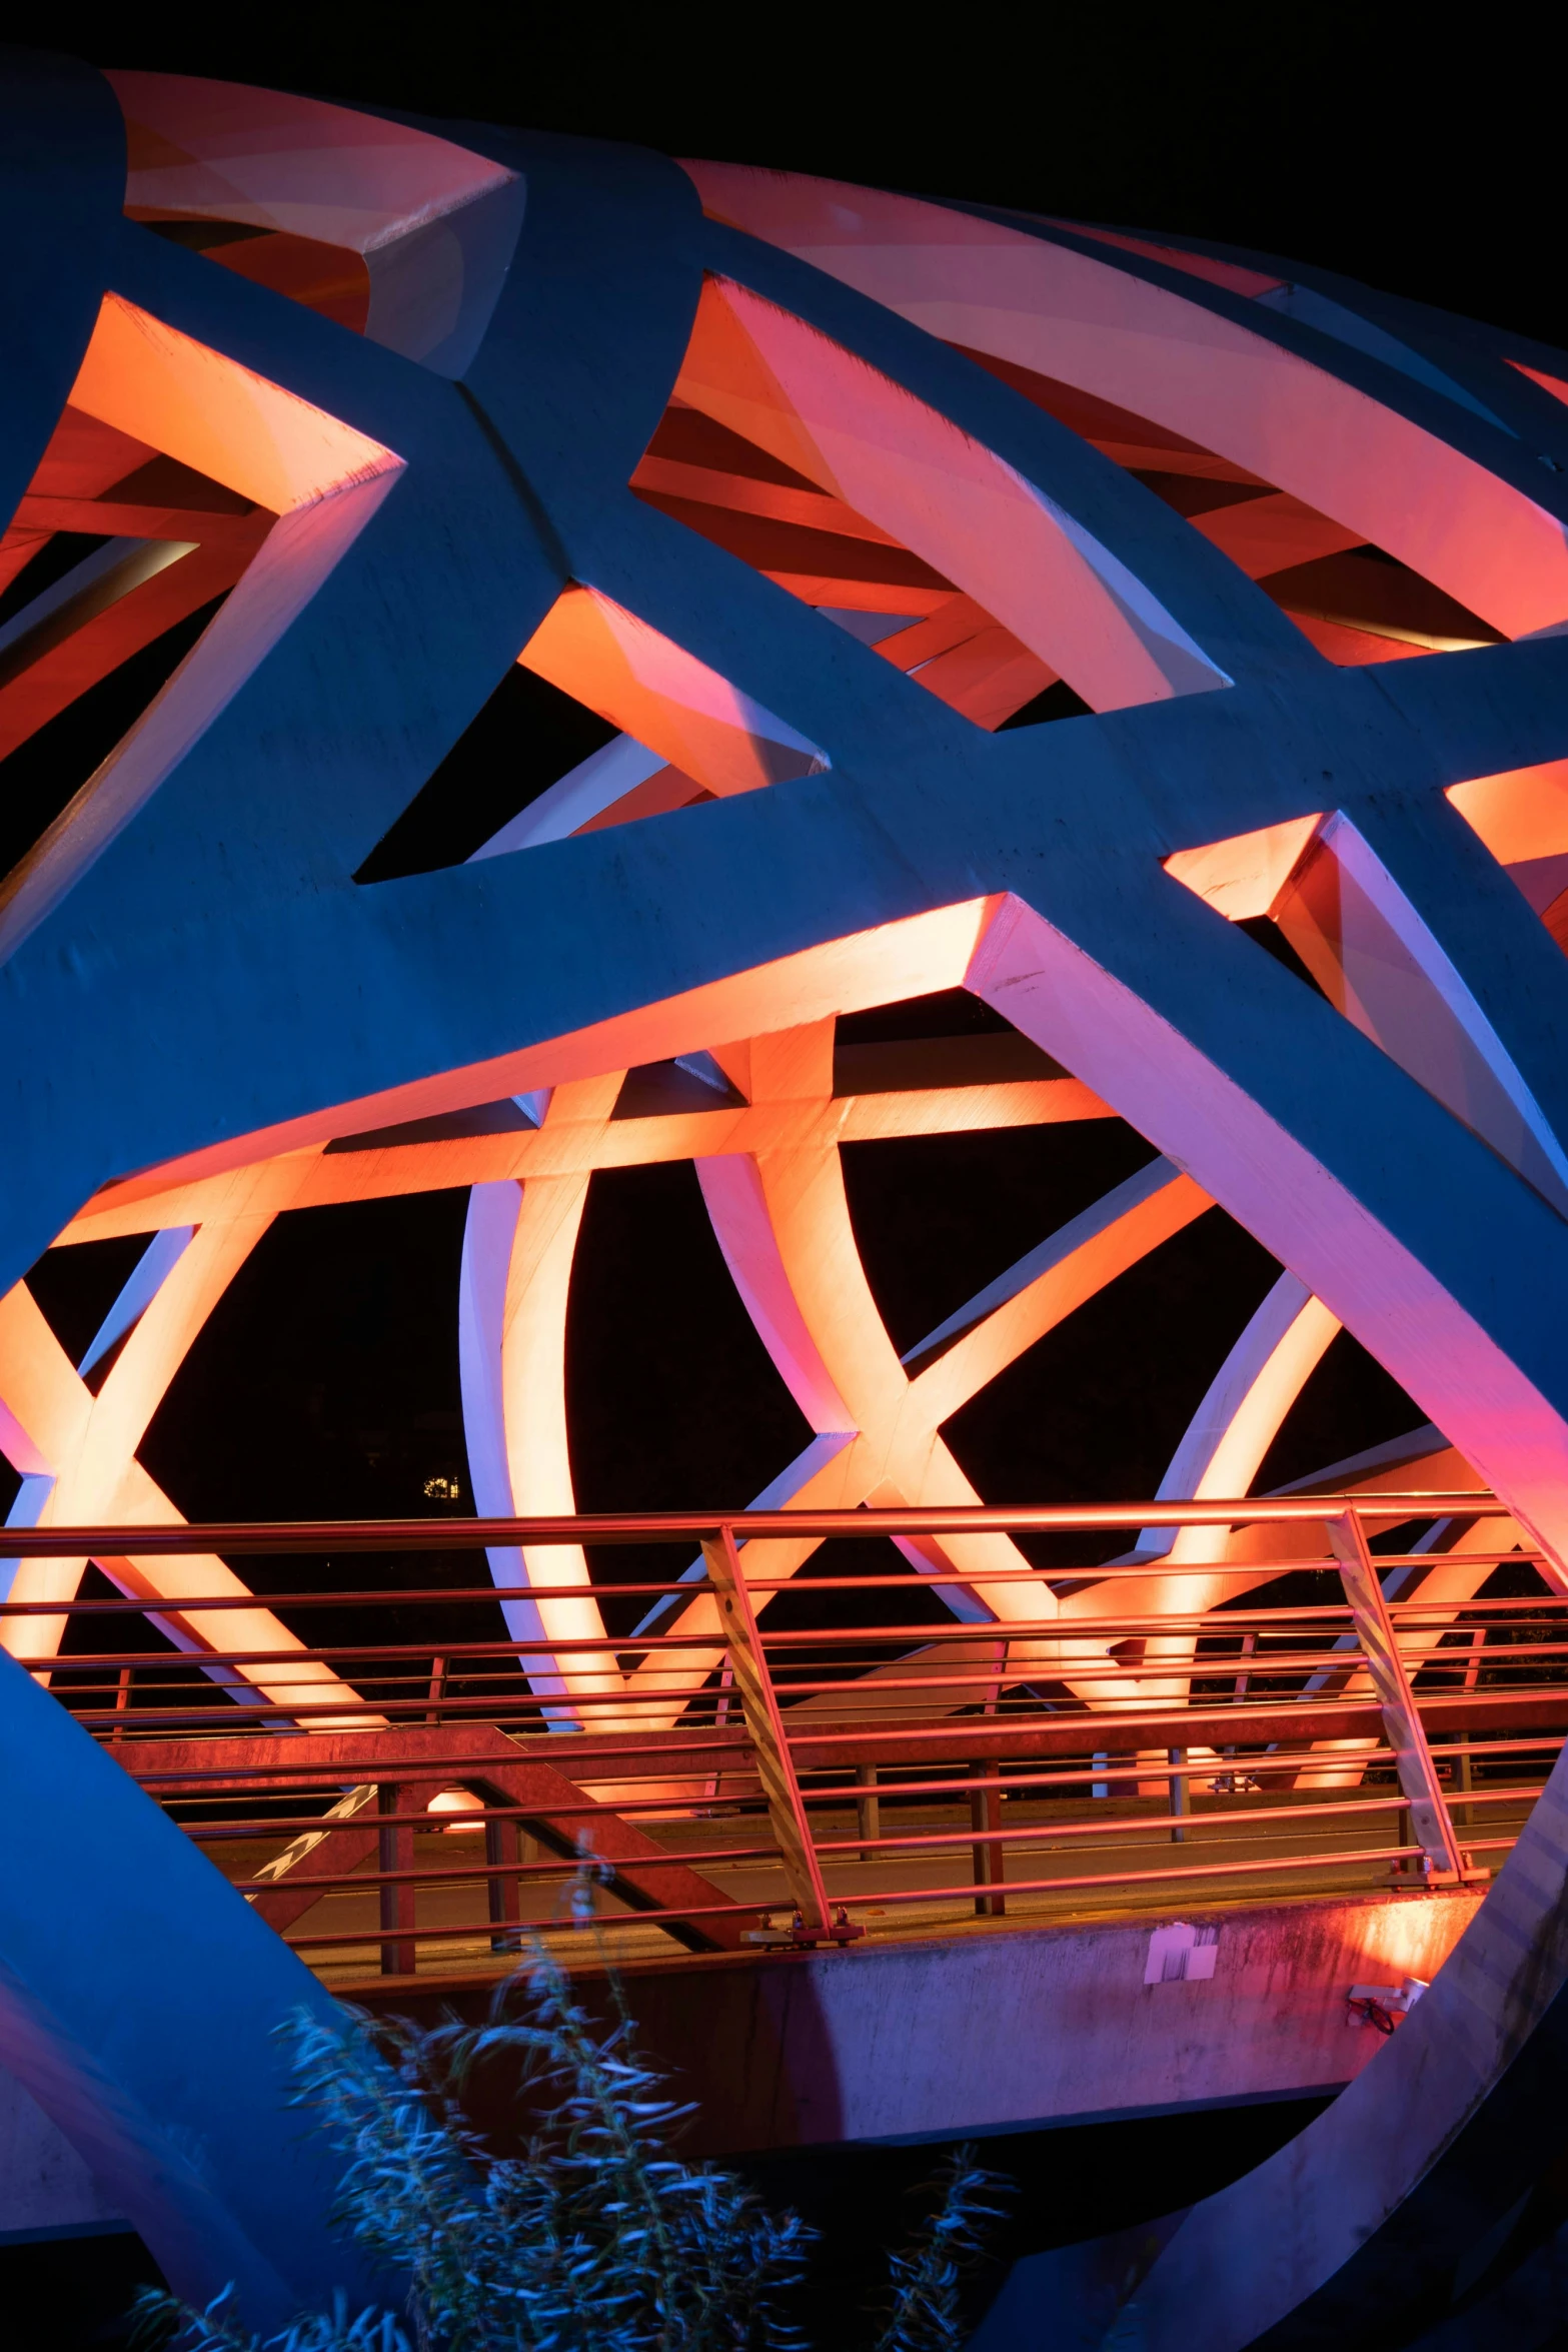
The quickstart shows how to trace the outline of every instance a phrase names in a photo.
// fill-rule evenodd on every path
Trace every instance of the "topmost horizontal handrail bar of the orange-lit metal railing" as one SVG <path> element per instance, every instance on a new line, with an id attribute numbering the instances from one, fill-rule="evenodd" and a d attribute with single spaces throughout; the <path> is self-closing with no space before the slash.
<path id="1" fill-rule="evenodd" d="M 576 1543 L 701 1543 L 729 1526 L 743 1541 L 766 1543 L 813 1536 L 1046 1536 L 1095 1529 L 1321 1524 L 1354 1512 L 1359 1519 L 1507 1517 L 1507 1505 L 1474 1489 L 1410 1489 L 1406 1494 L 1237 1496 L 1229 1501 L 1147 1503 L 1032 1503 L 1004 1510 L 990 1503 L 940 1510 L 705 1510 L 599 1512 L 527 1519 L 233 1519 L 186 1526 L 7 1526 L 9 1559 L 195 1557 L 200 1552 L 480 1552 L 522 1545 Z M 1157 1573 L 1180 1573 L 1185 1562 L 1154 1562 Z M 1077 1573 L 1077 1571 L 1051 1571 Z M 1095 1573 L 1095 1571 L 1088 1571 Z M 1140 1571 L 1140 1573 L 1147 1573 Z M 959 1578 L 976 1583 L 976 1578 Z"/>

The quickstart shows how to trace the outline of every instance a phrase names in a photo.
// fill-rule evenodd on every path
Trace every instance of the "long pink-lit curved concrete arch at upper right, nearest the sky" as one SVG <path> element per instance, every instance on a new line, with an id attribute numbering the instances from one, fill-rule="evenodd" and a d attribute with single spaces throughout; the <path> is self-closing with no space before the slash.
<path id="1" fill-rule="evenodd" d="M 1180 292 L 1154 282 L 1138 270 L 1135 252 L 1131 266 L 1112 252 L 1100 256 L 1070 223 L 1053 235 L 1051 226 L 802 174 L 686 169 L 719 219 L 943 341 L 1070 383 L 1220 452 L 1375 539 L 1507 635 L 1549 628 L 1568 612 L 1561 532 L 1544 503 L 1460 447 L 1472 437 L 1469 419 L 1448 412 L 1418 426 L 1349 381 L 1352 353 L 1331 374 L 1288 348 L 1276 313 L 1201 280 Z M 1420 515 L 1403 506 L 1413 477 L 1425 485 Z"/>

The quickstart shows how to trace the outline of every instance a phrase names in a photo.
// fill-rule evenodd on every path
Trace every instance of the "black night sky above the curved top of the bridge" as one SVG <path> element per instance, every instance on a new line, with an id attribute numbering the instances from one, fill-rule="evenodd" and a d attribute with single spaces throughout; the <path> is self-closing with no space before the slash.
<path id="1" fill-rule="evenodd" d="M 1166 228 L 1568 343 L 1554 12 L 45 9 L 96 64 Z"/>

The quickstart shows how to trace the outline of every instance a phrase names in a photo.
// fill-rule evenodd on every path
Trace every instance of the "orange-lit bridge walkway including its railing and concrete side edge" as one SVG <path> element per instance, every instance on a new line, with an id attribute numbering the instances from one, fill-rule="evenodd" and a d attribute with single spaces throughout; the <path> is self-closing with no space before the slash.
<path id="1" fill-rule="evenodd" d="M 134 1863 L 176 1983 L 226 1940 L 242 1978 L 263 1924 L 336 1994 L 473 2006 L 538 1936 L 590 1994 L 621 1973 L 708 2152 L 1065 2126 L 1342 2091 L 1486 1915 L 1568 1733 L 1568 1597 L 1490 1494 L 1422 1475 L 1403 1449 L 1244 1501 L 14 1529 L 5 1642 L 101 1809 L 202 1856 Z M 1025 1566 L 954 1621 L 973 1566 L 929 1548 L 997 1536 Z M 780 1573 L 804 1541 L 823 1573 Z M 256 1590 L 28 1597 L 132 1543 Z M 522 1628 L 482 1564 L 512 1545 L 585 1548 L 550 1602 L 609 1630 Z M 101 1940 L 78 1858 L 38 1896 L 35 1947 Z"/>

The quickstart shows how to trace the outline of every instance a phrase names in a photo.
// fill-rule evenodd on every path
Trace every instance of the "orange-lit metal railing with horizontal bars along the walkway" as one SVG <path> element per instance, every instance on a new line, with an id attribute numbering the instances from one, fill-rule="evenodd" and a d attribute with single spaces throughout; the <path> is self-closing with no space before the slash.
<path id="1" fill-rule="evenodd" d="M 1467 1548 L 1472 1590 L 1453 1597 L 1453 1555 L 1371 1545 L 1439 1522 L 1472 1545 L 1500 1515 L 1488 1494 L 1378 1494 L 14 1529 L 12 1557 L 219 1552 L 268 1557 L 273 1576 L 289 1557 L 578 1543 L 696 1543 L 701 1559 L 536 1592 L 621 1613 L 602 1635 L 508 1630 L 524 1595 L 473 1578 L 47 1595 L 0 1604 L 0 1625 L 322 1973 L 451 1973 L 503 1964 L 527 1926 L 574 1936 L 590 1900 L 628 1950 L 766 1950 L 976 1915 L 1479 1882 L 1568 1733 L 1561 1576 L 1500 1541 Z M 792 1578 L 745 1557 L 802 1536 L 1135 1543 L 1269 1524 L 1316 1524 L 1324 1548 L 983 1571 L 893 1555 L 882 1576 Z M 1448 1597 L 1389 1597 L 1434 1569 Z M 1185 1581 L 1204 1606 L 1171 1606 Z M 940 1595 L 976 1588 L 990 1621 L 938 1621 Z M 259 1609 L 277 1637 L 223 1646 L 223 1616 Z M 35 1618 L 66 1621 L 56 1656 Z M 115 1642 L 127 1618 L 167 1646 Z"/>

